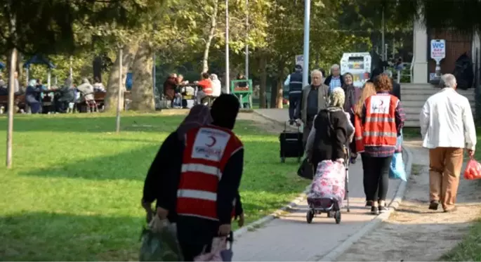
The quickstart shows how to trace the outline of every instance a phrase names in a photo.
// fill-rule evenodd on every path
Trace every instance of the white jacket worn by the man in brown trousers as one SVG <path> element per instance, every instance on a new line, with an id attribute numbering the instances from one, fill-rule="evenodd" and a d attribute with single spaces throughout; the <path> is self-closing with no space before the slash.
<path id="1" fill-rule="evenodd" d="M 476 128 L 468 98 L 452 88 L 430 96 L 419 114 L 424 148 L 475 150 Z"/>

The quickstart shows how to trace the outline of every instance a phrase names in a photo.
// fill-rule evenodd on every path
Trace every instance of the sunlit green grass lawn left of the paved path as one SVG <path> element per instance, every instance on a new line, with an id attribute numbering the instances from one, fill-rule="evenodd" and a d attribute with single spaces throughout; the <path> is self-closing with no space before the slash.
<path id="1" fill-rule="evenodd" d="M 183 116 L 16 115 L 13 169 L 0 172 L 0 261 L 136 261 L 147 169 Z M 6 137 L 6 118 L 0 117 Z M 297 163 L 279 163 L 275 135 L 239 121 L 246 222 L 301 192 Z M 5 145 L 5 144 L 4 144 Z M 0 150 L 5 159 L 5 150 Z"/>

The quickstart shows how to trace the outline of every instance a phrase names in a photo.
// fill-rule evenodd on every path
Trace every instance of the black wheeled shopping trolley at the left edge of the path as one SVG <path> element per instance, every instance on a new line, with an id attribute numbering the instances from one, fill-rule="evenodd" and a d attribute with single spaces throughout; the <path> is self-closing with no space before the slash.
<path id="1" fill-rule="evenodd" d="M 287 157 L 297 157 L 297 162 L 301 162 L 301 157 L 304 155 L 304 145 L 300 126 L 297 127 L 297 131 L 288 131 L 286 122 L 284 131 L 279 135 L 279 142 L 281 144 L 281 163 L 286 162 Z"/>

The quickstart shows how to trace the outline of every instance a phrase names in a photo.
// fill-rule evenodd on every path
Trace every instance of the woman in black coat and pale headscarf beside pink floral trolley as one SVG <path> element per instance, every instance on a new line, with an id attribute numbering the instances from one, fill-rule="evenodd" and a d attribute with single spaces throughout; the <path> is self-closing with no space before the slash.
<path id="1" fill-rule="evenodd" d="M 346 148 L 354 135 L 349 114 L 344 112 L 345 94 L 336 87 L 329 94 L 329 106 L 317 113 L 305 145 L 310 162 L 317 166 L 324 160 L 343 162 Z"/>

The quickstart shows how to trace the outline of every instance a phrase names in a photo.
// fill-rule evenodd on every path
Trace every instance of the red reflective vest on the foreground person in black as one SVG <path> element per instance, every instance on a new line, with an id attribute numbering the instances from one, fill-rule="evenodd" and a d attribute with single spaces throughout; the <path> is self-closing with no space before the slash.
<path id="1" fill-rule="evenodd" d="M 202 126 L 187 132 L 177 214 L 218 221 L 218 182 L 230 156 L 242 147 L 232 131 L 218 126 Z"/>

